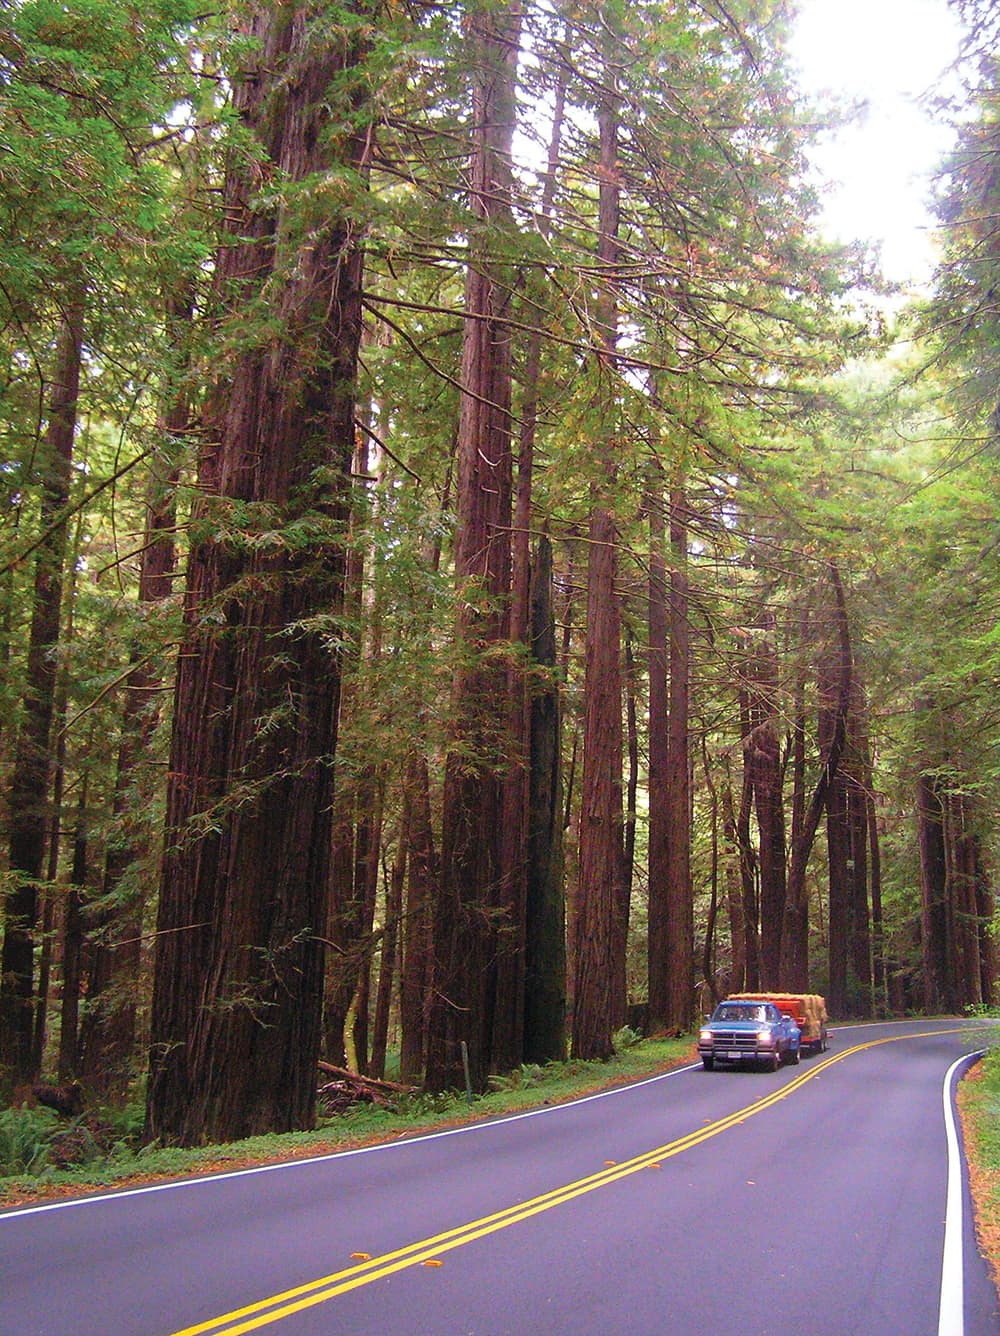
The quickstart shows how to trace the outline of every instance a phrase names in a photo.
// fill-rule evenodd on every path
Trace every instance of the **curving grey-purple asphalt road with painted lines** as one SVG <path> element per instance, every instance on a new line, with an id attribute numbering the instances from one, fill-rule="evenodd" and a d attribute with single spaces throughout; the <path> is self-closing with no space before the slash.
<path id="1" fill-rule="evenodd" d="M 0 1333 L 1000 1333 L 957 1176 L 948 1208 L 945 1078 L 983 1046 L 844 1029 L 777 1074 L 0 1213 Z"/>

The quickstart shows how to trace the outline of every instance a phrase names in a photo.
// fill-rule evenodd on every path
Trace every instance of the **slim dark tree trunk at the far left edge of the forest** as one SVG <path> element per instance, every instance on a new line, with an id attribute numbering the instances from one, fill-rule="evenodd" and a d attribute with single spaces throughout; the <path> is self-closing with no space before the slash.
<path id="1" fill-rule="evenodd" d="M 41 538 L 35 556 L 35 592 L 28 643 L 23 717 L 9 788 L 11 839 L 4 946 L 0 957 L 0 1070 L 15 1083 L 35 1075 L 35 933 L 37 884 L 45 851 L 45 803 L 55 701 L 59 620 L 65 562 L 65 505 L 76 430 L 83 353 L 83 298 L 72 297 L 56 339 L 48 397 L 48 426 L 40 442 Z"/>

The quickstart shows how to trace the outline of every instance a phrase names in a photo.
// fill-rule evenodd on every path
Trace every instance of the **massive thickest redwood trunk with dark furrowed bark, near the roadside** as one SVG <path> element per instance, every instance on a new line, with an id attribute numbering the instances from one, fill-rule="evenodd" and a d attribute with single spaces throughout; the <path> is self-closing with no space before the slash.
<path id="1" fill-rule="evenodd" d="M 262 150 L 252 172 L 356 182 L 367 136 L 342 127 L 363 120 L 359 25 L 318 47 L 310 20 L 295 4 L 246 20 L 234 103 Z M 310 1126 L 322 1030 L 340 680 L 326 629 L 343 596 L 362 253 L 346 219 L 251 207 L 248 172 L 234 155 L 224 207 L 242 240 L 216 281 L 242 333 L 200 460 L 156 925 L 146 1133 L 183 1144 Z M 256 541 L 286 522 L 310 541 Z"/>

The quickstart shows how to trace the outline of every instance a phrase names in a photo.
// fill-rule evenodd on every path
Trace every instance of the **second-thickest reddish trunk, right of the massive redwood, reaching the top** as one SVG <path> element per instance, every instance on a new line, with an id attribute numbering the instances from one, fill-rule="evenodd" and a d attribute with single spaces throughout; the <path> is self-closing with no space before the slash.
<path id="1" fill-rule="evenodd" d="M 507 747 L 506 671 L 489 655 L 503 633 L 502 601 L 510 593 L 510 281 L 490 254 L 490 230 L 510 224 L 511 142 L 521 31 L 519 4 L 469 16 L 475 56 L 474 148 L 470 163 L 470 263 L 462 342 L 458 432 L 455 581 L 462 613 L 458 640 L 466 664 L 453 693 L 457 745 L 445 776 L 441 888 L 434 915 L 434 1001 L 426 1082 L 430 1089 L 463 1081 L 463 1051 L 473 1085 L 483 1089 L 493 1065 L 497 955 L 522 949 L 522 878 L 503 883 L 501 832 Z M 511 977 L 518 966 L 513 962 Z M 503 987 L 502 1005 L 519 1005 Z M 507 1018 L 510 1019 L 510 1018 Z M 517 1026 L 513 1026 L 515 1030 Z M 505 1047 L 517 1045 L 513 1031 Z"/>

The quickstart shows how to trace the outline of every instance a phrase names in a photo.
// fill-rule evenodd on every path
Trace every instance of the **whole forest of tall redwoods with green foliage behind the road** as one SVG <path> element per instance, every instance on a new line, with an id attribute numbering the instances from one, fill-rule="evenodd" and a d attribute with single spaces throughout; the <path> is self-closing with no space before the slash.
<path id="1" fill-rule="evenodd" d="M 1000 13 L 936 267 L 785 0 L 0 15 L 0 1105 L 307 1129 L 1000 1002 Z M 861 40 L 861 39 L 860 39 Z"/>

